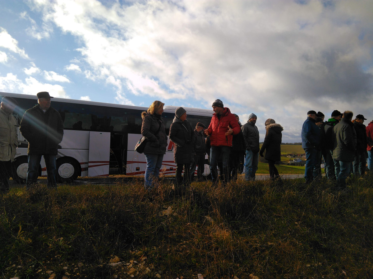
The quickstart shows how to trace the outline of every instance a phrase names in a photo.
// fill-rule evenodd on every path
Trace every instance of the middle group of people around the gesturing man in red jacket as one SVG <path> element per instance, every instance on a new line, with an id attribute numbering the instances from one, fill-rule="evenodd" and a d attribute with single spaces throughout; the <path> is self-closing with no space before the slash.
<path id="1" fill-rule="evenodd" d="M 154 187 L 154 179 L 159 177 L 163 155 L 166 153 L 167 135 L 161 117 L 163 105 L 160 101 L 154 101 L 146 112 L 142 112 L 141 134 L 148 139 L 144 149 L 147 189 Z M 238 115 L 224 107 L 221 100 L 215 100 L 212 108 L 214 114 L 209 126 L 206 128 L 203 123 L 198 122 L 194 130 L 187 120 L 186 110 L 182 107 L 175 110 L 169 138 L 175 144 L 173 154 L 176 185 L 189 186 L 194 179 L 196 167 L 197 180 L 203 179 L 206 153 L 209 155 L 213 185 L 219 179 L 223 185 L 231 179 L 236 180 L 238 173 L 242 172 L 244 158 L 245 180 L 255 180 L 259 155 L 268 161 L 271 179 L 280 181 L 275 162 L 280 161 L 282 126 L 273 119 L 267 119 L 266 137 L 260 148 L 259 132 L 255 125 L 257 116 L 254 113 L 249 115 L 246 124 L 241 125 Z"/>

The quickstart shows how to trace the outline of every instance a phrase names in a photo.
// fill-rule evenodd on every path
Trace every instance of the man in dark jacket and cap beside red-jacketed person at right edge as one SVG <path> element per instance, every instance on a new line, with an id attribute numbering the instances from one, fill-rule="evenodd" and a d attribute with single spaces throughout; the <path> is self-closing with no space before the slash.
<path id="1" fill-rule="evenodd" d="M 366 127 L 363 124 L 364 120 L 367 120 L 364 118 L 364 115 L 358 114 L 356 115 L 355 121 L 354 121 L 354 128 L 356 132 L 356 153 L 354 158 L 354 174 L 355 176 L 362 176 L 365 173 L 365 166 L 367 164 L 367 158 L 366 158 L 366 150 L 367 150 L 367 132 Z"/>

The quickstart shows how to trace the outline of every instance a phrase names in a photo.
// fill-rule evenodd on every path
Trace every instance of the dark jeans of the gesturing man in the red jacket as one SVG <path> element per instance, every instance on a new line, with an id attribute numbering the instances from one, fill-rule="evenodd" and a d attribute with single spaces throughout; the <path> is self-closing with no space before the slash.
<path id="1" fill-rule="evenodd" d="M 217 183 L 217 162 L 222 161 L 222 170 L 220 173 L 223 173 L 224 180 L 222 183 L 228 182 L 228 163 L 229 163 L 229 153 L 231 152 L 230 146 L 211 146 L 210 151 L 210 172 L 213 183 Z"/>

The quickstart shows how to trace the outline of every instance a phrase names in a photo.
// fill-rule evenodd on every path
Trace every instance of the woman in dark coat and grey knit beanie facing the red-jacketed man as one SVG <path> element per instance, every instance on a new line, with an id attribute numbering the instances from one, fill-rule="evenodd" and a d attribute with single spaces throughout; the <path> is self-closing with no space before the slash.
<path id="1" fill-rule="evenodd" d="M 182 107 L 175 110 L 175 118 L 170 126 L 169 138 L 175 144 L 173 158 L 176 163 L 176 185 L 189 186 L 195 134 L 190 123 L 186 120 L 186 111 Z M 182 180 L 183 168 L 184 176 Z"/>

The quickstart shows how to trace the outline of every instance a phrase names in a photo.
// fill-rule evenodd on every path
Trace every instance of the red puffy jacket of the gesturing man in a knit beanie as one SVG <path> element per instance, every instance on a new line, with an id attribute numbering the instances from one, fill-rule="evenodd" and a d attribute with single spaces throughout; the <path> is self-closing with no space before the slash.
<path id="1" fill-rule="evenodd" d="M 226 136 L 230 126 L 233 134 Z M 234 114 L 231 113 L 229 108 L 224 108 L 220 118 L 216 113 L 213 114 L 209 128 L 207 128 L 210 135 L 211 146 L 232 146 L 232 137 L 239 133 L 239 125 Z"/>

